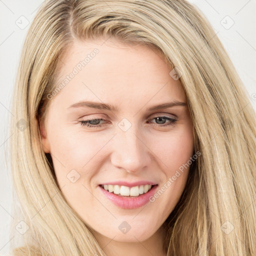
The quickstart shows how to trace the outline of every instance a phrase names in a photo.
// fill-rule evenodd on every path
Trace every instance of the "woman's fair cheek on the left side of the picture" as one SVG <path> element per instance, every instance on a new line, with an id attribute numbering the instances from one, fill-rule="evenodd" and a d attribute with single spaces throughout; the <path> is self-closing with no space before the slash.
<path id="1" fill-rule="evenodd" d="M 78 124 L 77 124 L 78 125 Z M 71 129 L 52 130 L 51 157 L 57 183 L 68 204 L 85 212 L 86 205 L 96 206 L 91 197 L 90 180 L 99 164 L 100 148 L 105 140 Z"/>

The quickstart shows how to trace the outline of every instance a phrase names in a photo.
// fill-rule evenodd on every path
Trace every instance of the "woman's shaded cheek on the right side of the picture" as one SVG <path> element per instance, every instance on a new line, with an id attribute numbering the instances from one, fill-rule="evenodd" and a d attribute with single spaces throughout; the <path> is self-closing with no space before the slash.
<path id="1" fill-rule="evenodd" d="M 194 141 L 192 130 L 188 127 L 172 132 L 162 141 L 161 146 L 158 143 L 157 156 L 161 159 L 165 180 L 158 187 L 151 201 L 156 203 L 159 212 L 162 213 L 162 219 L 165 219 L 185 188 Z"/>

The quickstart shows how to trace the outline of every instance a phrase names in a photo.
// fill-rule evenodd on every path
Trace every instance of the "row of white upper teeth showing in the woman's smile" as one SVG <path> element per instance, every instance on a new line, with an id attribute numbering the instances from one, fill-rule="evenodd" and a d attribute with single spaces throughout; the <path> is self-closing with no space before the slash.
<path id="1" fill-rule="evenodd" d="M 150 190 L 152 185 L 148 185 L 148 184 L 139 185 L 139 186 L 132 186 L 129 188 L 128 186 L 107 184 L 107 185 L 101 185 L 101 187 L 103 187 L 105 190 L 107 190 L 110 193 L 113 192 L 114 194 L 120 194 L 123 196 L 138 196 L 139 194 L 146 193 L 148 190 Z"/>

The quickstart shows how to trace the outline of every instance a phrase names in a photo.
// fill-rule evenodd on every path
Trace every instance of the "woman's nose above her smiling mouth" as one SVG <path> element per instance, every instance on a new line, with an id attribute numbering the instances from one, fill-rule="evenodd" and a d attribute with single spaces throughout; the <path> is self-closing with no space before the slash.
<path id="1" fill-rule="evenodd" d="M 111 163 L 115 167 L 135 173 L 150 165 L 150 149 L 138 129 L 118 131 L 113 139 Z"/>

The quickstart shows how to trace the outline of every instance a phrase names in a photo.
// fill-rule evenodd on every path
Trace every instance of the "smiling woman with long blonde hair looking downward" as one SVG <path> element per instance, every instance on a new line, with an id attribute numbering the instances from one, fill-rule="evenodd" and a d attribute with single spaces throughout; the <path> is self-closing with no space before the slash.
<path id="1" fill-rule="evenodd" d="M 255 113 L 192 4 L 45 1 L 12 111 L 13 255 L 255 255 Z"/>

